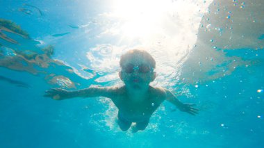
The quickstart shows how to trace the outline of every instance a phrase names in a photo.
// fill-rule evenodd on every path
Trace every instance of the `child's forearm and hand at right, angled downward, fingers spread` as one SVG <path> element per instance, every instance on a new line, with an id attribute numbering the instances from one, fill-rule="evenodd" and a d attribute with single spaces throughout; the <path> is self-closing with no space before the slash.
<path id="1" fill-rule="evenodd" d="M 199 111 L 197 108 L 193 108 L 192 106 L 195 106 L 195 104 L 183 104 L 179 99 L 177 99 L 170 90 L 165 90 L 166 91 L 166 100 L 170 101 L 170 103 L 174 104 L 179 110 L 190 113 L 191 115 L 196 115 Z"/>

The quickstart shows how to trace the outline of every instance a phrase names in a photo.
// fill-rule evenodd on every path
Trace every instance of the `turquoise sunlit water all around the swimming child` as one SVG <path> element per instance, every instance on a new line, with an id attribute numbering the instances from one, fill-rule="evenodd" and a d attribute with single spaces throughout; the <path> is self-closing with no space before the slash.
<path id="1" fill-rule="evenodd" d="M 0 3 L 0 18 L 30 37 L 1 26 L 12 40 L 0 38 L 0 147 L 263 147 L 262 1 Z M 199 115 L 164 102 L 133 134 L 109 99 L 42 97 L 122 85 L 119 56 L 135 47 L 156 59 L 151 85 Z"/>

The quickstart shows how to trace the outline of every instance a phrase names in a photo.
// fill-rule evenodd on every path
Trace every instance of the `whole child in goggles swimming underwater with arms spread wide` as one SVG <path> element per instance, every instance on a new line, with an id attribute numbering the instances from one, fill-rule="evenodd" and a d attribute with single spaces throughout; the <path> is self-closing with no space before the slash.
<path id="1" fill-rule="evenodd" d="M 83 90 L 63 90 L 55 88 L 47 90 L 44 97 L 56 100 L 74 97 L 107 97 L 118 108 L 117 123 L 122 131 L 131 127 L 132 132 L 146 129 L 149 118 L 160 104 L 167 100 L 179 110 L 196 115 L 195 104 L 184 104 L 177 99 L 170 90 L 149 85 L 156 78 L 156 62 L 144 50 L 133 49 L 121 56 L 119 61 L 121 72 L 119 78 L 124 82 L 122 86 L 90 87 Z"/>

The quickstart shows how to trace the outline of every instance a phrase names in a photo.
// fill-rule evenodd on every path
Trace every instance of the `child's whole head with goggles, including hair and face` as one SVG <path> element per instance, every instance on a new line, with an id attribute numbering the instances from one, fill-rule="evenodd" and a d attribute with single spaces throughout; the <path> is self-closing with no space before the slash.
<path id="1" fill-rule="evenodd" d="M 156 78 L 156 62 L 147 51 L 133 49 L 121 56 L 119 77 L 125 85 L 132 88 L 148 86 Z"/>

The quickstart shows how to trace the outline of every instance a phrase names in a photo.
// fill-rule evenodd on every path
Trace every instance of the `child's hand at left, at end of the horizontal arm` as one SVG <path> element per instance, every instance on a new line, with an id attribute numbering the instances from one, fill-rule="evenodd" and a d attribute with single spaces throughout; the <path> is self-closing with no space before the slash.
<path id="1" fill-rule="evenodd" d="M 52 99 L 62 100 L 69 97 L 69 91 L 63 90 L 61 88 L 51 88 L 45 91 L 44 97 L 51 97 Z"/>

